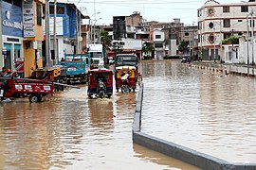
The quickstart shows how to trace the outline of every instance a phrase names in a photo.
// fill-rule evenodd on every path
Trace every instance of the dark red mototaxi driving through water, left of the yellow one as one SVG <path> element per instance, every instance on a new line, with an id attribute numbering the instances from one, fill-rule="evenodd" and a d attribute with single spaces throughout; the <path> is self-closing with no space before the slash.
<path id="1" fill-rule="evenodd" d="M 113 94 L 113 73 L 109 69 L 93 69 L 89 71 L 87 95 L 90 98 L 110 97 Z"/>

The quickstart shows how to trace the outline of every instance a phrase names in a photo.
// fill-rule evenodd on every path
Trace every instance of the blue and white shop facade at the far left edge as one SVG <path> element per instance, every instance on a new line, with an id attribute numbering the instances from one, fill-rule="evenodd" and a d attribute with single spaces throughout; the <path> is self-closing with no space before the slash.
<path id="1" fill-rule="evenodd" d="M 23 56 L 23 8 L 21 1 L 2 1 L 2 57 L 1 67 L 15 70 L 17 61 L 24 62 Z"/>

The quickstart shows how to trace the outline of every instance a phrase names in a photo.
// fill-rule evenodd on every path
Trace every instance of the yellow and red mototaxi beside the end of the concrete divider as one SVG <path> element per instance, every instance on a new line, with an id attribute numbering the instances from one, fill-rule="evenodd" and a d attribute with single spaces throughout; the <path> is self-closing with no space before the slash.
<path id="1" fill-rule="evenodd" d="M 137 84 L 137 68 L 135 66 L 116 67 L 116 89 L 122 93 L 135 92 Z"/>

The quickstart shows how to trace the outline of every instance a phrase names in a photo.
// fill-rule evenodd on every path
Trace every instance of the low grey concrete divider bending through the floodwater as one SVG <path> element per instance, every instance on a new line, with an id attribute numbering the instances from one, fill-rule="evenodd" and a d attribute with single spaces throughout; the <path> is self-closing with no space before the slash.
<path id="1" fill-rule="evenodd" d="M 256 163 L 230 163 L 208 154 L 197 152 L 191 148 L 174 144 L 154 136 L 142 133 L 141 111 L 143 103 L 144 84 L 141 82 L 137 92 L 137 107 L 135 110 L 133 122 L 133 142 L 143 145 L 149 149 L 155 150 L 174 159 L 187 162 L 202 169 L 213 170 L 256 170 Z"/>

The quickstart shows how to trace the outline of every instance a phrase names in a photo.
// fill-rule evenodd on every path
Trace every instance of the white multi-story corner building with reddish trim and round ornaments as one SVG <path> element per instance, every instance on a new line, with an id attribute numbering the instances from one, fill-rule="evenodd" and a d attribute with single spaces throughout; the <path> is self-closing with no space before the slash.
<path id="1" fill-rule="evenodd" d="M 217 1 L 208 0 L 203 7 L 199 8 L 198 47 L 201 50 L 202 58 L 225 60 L 222 40 L 230 36 L 244 38 L 253 36 L 254 11 L 256 11 L 256 3 L 251 0 L 230 4 L 220 4 Z M 230 45 L 231 49 L 236 51 L 233 44 Z M 238 57 L 238 55 L 236 56 Z"/>

